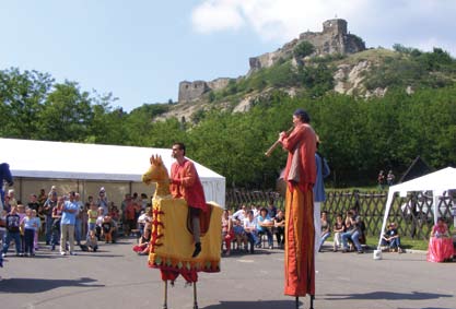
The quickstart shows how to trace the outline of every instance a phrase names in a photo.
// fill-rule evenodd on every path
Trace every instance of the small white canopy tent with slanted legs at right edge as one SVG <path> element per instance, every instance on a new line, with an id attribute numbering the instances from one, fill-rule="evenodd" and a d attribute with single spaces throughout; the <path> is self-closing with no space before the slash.
<path id="1" fill-rule="evenodd" d="M 386 221 L 388 219 L 389 210 L 393 204 L 393 198 L 395 193 L 399 193 L 400 197 L 407 197 L 407 192 L 412 191 L 432 191 L 433 205 L 434 205 L 434 223 L 437 221 L 437 203 L 439 197 L 447 190 L 456 190 L 456 168 L 446 167 L 444 169 L 424 175 L 412 180 L 391 186 L 388 191 L 388 199 L 386 200 L 385 215 L 383 218 L 381 236 L 378 239 L 378 248 L 382 242 L 382 235 L 386 227 Z"/>

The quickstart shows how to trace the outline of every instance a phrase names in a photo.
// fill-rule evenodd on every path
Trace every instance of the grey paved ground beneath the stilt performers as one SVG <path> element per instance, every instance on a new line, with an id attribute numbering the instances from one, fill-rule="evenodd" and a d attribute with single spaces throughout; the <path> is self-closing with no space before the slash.
<path id="1" fill-rule="evenodd" d="M 9 308 L 162 308 L 160 272 L 131 251 L 135 240 L 103 245 L 101 252 L 8 257 L 0 269 L 0 306 Z M 456 308 L 456 263 L 429 263 L 420 253 L 324 252 L 318 257 L 315 308 Z M 283 295 L 283 251 L 223 258 L 222 272 L 201 274 L 199 308 L 292 309 Z M 308 298 L 300 298 L 308 308 Z M 179 278 L 168 308 L 192 308 L 192 288 Z"/>

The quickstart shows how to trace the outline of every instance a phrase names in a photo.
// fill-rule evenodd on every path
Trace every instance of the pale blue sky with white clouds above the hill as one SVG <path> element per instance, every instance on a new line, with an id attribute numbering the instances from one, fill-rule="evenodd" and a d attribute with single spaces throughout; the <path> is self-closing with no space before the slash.
<path id="1" fill-rule="evenodd" d="M 49 73 L 113 107 L 174 102 L 182 81 L 237 78 L 339 17 L 366 47 L 394 44 L 456 57 L 454 0 L 0 0 L 0 70 Z"/>

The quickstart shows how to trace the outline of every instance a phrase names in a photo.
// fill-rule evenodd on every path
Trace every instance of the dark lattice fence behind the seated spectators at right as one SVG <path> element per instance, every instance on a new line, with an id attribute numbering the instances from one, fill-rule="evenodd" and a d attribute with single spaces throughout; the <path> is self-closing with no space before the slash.
<path id="1" fill-rule="evenodd" d="M 226 207 L 235 211 L 242 204 L 266 206 L 270 198 L 278 209 L 284 209 L 284 197 L 274 191 L 247 191 L 232 189 L 226 191 Z M 346 216 L 350 209 L 356 209 L 366 226 L 369 236 L 379 236 L 385 215 L 386 192 L 329 191 L 321 211 L 328 212 L 331 222 L 338 214 Z M 395 222 L 399 234 L 414 239 L 428 240 L 434 225 L 434 205 L 432 192 L 413 192 L 405 198 L 395 195 L 388 222 Z M 439 197 L 437 216 L 445 218 L 448 227 L 454 226 L 456 195 Z"/>

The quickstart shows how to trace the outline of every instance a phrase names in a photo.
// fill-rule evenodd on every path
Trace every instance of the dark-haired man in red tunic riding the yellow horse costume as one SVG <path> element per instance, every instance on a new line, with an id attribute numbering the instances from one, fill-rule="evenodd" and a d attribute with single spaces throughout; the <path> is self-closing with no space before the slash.
<path id="1" fill-rule="evenodd" d="M 172 150 L 172 156 L 176 162 L 171 166 L 169 191 L 173 198 L 185 199 L 190 207 L 195 240 L 195 251 L 191 257 L 196 258 L 201 252 L 199 215 L 201 211 L 208 211 L 204 191 L 195 164 L 185 157 L 185 145 L 175 143 Z"/>

